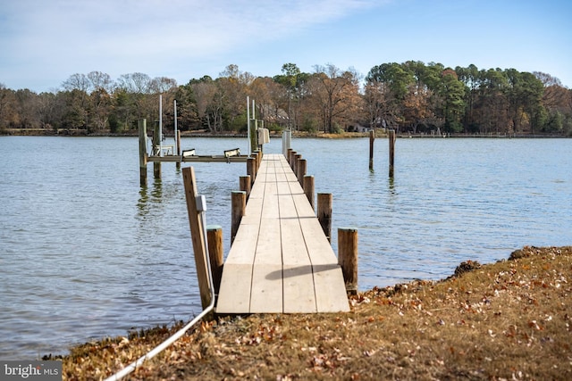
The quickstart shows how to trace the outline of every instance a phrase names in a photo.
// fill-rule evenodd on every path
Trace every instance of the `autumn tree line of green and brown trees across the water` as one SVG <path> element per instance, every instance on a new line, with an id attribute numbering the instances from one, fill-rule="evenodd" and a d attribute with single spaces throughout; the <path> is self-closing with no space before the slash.
<path id="1" fill-rule="evenodd" d="M 204 76 L 185 85 L 139 72 L 114 80 L 99 71 L 73 74 L 60 89 L 40 94 L 0 84 L 0 132 L 122 133 L 139 119 L 158 120 L 158 95 L 165 130 L 174 127 L 176 100 L 183 131 L 244 132 L 249 95 L 257 120 L 271 129 L 572 136 L 572 90 L 549 74 L 413 61 L 376 65 L 365 77 L 333 64 L 307 73 L 294 63 L 282 65 L 273 78 L 256 77 L 231 64 L 216 79 Z"/>

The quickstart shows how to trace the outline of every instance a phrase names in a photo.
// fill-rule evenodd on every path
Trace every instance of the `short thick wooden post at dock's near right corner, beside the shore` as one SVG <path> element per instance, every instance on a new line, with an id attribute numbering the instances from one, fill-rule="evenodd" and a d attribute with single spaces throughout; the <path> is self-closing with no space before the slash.
<path id="1" fill-rule="evenodd" d="M 357 228 L 338 228 L 338 263 L 346 291 L 357 294 Z"/>

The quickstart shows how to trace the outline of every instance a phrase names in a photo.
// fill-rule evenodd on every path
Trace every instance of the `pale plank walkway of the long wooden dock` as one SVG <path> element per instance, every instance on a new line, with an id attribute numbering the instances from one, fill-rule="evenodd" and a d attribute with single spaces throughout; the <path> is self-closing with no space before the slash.
<path id="1" fill-rule="evenodd" d="M 217 314 L 349 311 L 341 268 L 282 154 L 265 154 L 224 262 Z"/>

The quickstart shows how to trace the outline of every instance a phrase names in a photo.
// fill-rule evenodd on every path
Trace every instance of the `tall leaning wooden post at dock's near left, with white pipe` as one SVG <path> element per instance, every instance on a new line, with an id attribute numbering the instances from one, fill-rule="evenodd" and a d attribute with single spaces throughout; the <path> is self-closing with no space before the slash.
<path id="1" fill-rule="evenodd" d="M 197 265 L 198 291 L 203 309 L 211 303 L 210 280 L 208 276 L 208 259 L 206 258 L 206 242 L 203 230 L 203 220 L 197 208 L 197 180 L 193 167 L 186 167 L 182 170 L 183 184 L 185 186 L 185 198 L 187 200 L 187 211 L 189 212 L 190 237 L 195 253 L 195 264 Z"/>

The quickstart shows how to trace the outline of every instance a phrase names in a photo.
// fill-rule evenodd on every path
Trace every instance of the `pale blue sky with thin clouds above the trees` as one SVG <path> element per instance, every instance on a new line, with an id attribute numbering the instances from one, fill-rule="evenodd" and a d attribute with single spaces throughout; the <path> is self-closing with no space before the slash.
<path id="1" fill-rule="evenodd" d="M 384 62 L 543 71 L 572 87 L 568 0 L 7 0 L 0 83 L 55 91 L 74 73 L 118 79 L 255 76 L 296 63 L 362 75 Z"/>

